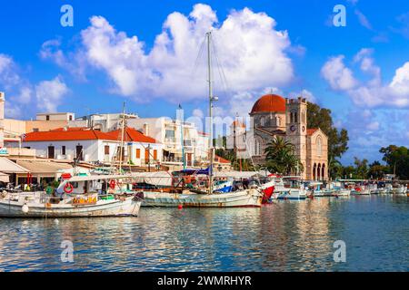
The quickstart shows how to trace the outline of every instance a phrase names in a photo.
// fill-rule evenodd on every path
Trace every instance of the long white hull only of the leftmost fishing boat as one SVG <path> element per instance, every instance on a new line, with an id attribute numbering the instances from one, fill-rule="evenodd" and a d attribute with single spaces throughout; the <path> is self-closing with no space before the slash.
<path id="1" fill-rule="evenodd" d="M 0 200 L 2 218 L 95 218 L 95 217 L 136 217 L 141 201 L 135 198 L 98 200 L 95 204 L 41 204 L 13 200 Z M 28 210 L 24 211 L 24 206 Z M 27 209 L 25 208 L 25 209 Z"/>

